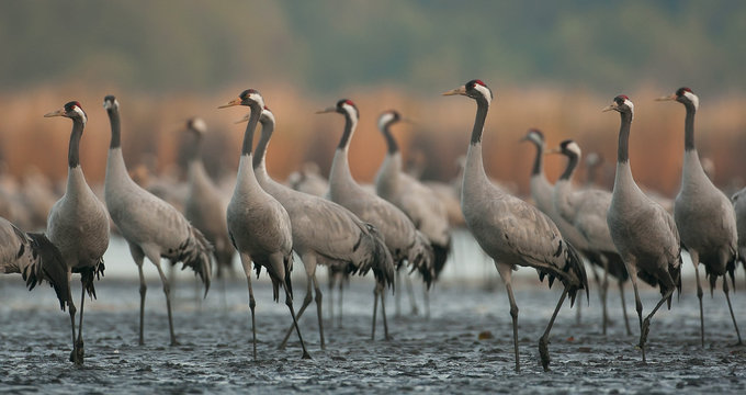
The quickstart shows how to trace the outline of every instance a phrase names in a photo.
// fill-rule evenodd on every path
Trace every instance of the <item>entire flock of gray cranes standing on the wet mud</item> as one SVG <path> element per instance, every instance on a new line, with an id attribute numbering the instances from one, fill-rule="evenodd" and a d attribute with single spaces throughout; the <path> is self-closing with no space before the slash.
<path id="1" fill-rule="evenodd" d="M 625 95 L 618 95 L 603 111 L 621 116 L 613 191 L 595 188 L 574 189 L 572 179 L 580 162 L 578 143 L 564 140 L 546 150 L 543 134 L 530 129 L 524 140 L 536 148 L 531 170 L 531 196 L 535 205 L 510 194 L 493 183 L 484 168 L 482 138 L 487 112 L 493 104 L 491 90 L 481 80 L 447 91 L 443 95 L 464 95 L 476 102 L 476 116 L 463 167 L 461 213 L 472 235 L 494 262 L 502 279 L 512 319 L 516 370 L 520 370 L 518 353 L 518 303 L 513 296 L 511 273 L 518 267 L 538 271 L 540 279 L 555 280 L 563 285 L 556 308 L 539 339 L 542 366 L 549 370 L 549 339 L 556 315 L 569 297 L 570 306 L 589 286 L 585 261 L 600 268 L 596 275 L 603 305 L 603 332 L 607 330 L 606 295 L 611 275 L 619 284 L 624 307 L 624 283 L 634 290 L 635 309 L 640 324 L 640 348 L 646 360 L 645 343 L 651 319 L 664 303 L 670 308 L 675 291 L 681 291 L 681 249 L 694 263 L 697 295 L 700 303 L 701 341 L 704 345 L 704 311 L 699 264 L 702 263 L 711 292 L 719 278 L 726 296 L 738 342 L 741 334 L 728 296 L 738 260 L 746 257 L 746 192 L 733 196 L 733 203 L 714 187 L 702 169 L 694 147 L 694 115 L 699 99 L 688 88 L 659 100 L 677 101 L 686 108 L 685 161 L 681 190 L 672 215 L 645 194 L 635 183 L 629 155 L 629 138 L 634 105 Z M 21 273 L 29 289 L 41 281 L 52 284 L 63 311 L 68 309 L 72 334 L 70 360 L 83 361 L 82 316 L 86 293 L 95 297 L 94 280 L 104 272 L 103 255 L 109 246 L 110 218 L 127 241 L 140 280 L 139 343 L 144 343 L 144 308 L 147 286 L 143 274 L 145 258 L 160 275 L 169 319 L 171 345 L 178 345 L 173 328 L 170 284 L 161 268 L 161 258 L 171 264 L 182 262 L 210 289 L 215 262 L 216 272 L 226 270 L 238 252 L 249 292 L 249 308 L 257 358 L 256 300 L 251 276 L 262 268 L 268 272 L 274 300 L 283 290 L 292 325 L 281 347 L 292 332 L 298 336 L 303 358 L 310 358 L 303 341 L 297 319 L 312 302 L 316 302 L 320 347 L 326 347 L 323 324 L 323 295 L 317 280 L 318 266 L 325 266 L 334 279 L 350 274 L 366 274 L 375 279 L 373 292 L 372 338 L 375 339 L 378 303 L 383 316 L 384 336 L 388 339 L 385 313 L 385 290 L 393 287 L 396 273 L 408 270 L 418 273 L 429 289 L 441 273 L 451 250 L 449 207 L 439 199 L 437 188 L 427 185 L 403 171 L 402 153 L 391 127 L 406 122 L 398 112 L 386 111 L 378 119 L 378 128 L 386 140 L 387 153 L 381 166 L 374 191 L 361 185 L 349 167 L 349 147 L 359 122 L 357 105 L 347 99 L 318 113 L 337 113 L 344 125 L 328 184 L 323 177 L 305 169 L 290 188 L 273 180 L 267 171 L 265 157 L 275 129 L 275 117 L 255 89 L 219 108 L 246 106 L 249 113 L 240 151 L 235 189 L 229 202 L 210 180 L 201 159 L 201 143 L 206 126 L 200 119 L 188 122 L 190 143 L 187 145 L 189 189 L 184 213 L 139 187 L 127 172 L 121 145 L 118 101 L 108 95 L 103 104 L 111 125 L 111 144 L 106 160 L 104 203 L 87 184 L 79 160 L 79 143 L 87 114 L 78 102 L 69 102 L 44 116 L 64 116 L 72 121 L 68 150 L 68 178 L 65 194 L 54 204 L 46 222 L 46 234 L 24 233 L 0 217 L 0 270 Z M 261 125 L 257 146 L 253 137 Z M 552 184 L 544 174 L 544 154 L 557 153 L 567 158 L 560 179 Z M 298 191 L 301 190 L 301 191 Z M 745 190 L 746 191 L 746 190 Z M 308 192 L 308 193 L 306 193 Z M 735 207 L 735 210 L 734 210 Z M 741 235 L 741 237 L 738 237 Z M 293 305 L 290 272 L 294 253 L 303 262 L 307 289 L 299 311 Z M 253 263 L 253 266 L 252 266 Z M 745 263 L 746 264 L 746 263 Z M 406 269 L 405 269 L 406 267 Z M 80 273 L 81 302 L 78 331 L 70 280 Z M 643 318 L 637 279 L 658 286 L 662 298 Z M 331 290 L 331 285 L 330 285 Z M 340 286 L 341 291 L 341 286 Z M 397 290 L 398 291 L 398 290 Z M 427 293 L 426 293 L 427 294 Z M 329 308 L 331 309 L 331 303 Z M 340 293 L 341 306 L 341 293 Z M 624 313 L 628 334 L 631 328 Z M 341 307 L 339 309 L 341 316 Z"/>

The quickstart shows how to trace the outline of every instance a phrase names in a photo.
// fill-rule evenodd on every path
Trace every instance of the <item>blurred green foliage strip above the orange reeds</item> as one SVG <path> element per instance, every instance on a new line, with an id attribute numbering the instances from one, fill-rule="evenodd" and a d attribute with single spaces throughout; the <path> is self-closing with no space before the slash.
<path id="1" fill-rule="evenodd" d="M 3 1 L 0 86 L 746 84 L 746 2 Z"/>

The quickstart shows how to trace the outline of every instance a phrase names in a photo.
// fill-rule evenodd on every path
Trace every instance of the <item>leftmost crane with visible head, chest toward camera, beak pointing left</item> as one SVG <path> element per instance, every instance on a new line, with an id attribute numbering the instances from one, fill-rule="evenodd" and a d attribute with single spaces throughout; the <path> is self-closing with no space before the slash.
<path id="1" fill-rule="evenodd" d="M 109 248 L 109 215 L 106 215 L 106 207 L 86 182 L 86 176 L 80 166 L 80 138 L 88 122 L 82 106 L 79 102 L 71 101 L 44 116 L 65 116 L 72 120 L 67 154 L 67 188 L 65 195 L 49 211 L 46 234 L 59 249 L 67 264 L 68 281 L 72 273 L 80 273 L 80 321 L 78 323 L 78 340 L 75 340 L 70 360 L 76 364 L 81 364 L 84 354 L 83 302 L 87 292 L 89 296 L 95 297 L 93 279 L 100 278 L 104 271 L 103 253 Z M 75 332 L 76 308 L 71 298 L 69 314 Z M 72 336 L 75 338 L 75 334 Z"/>

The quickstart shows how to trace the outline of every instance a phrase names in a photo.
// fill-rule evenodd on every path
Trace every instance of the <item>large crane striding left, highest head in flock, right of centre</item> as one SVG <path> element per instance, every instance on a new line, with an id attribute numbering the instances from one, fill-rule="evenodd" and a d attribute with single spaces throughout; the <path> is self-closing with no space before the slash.
<path id="1" fill-rule="evenodd" d="M 546 330 L 539 339 L 539 353 L 542 366 L 546 371 L 550 364 L 547 348 L 550 330 L 567 295 L 570 298 L 570 306 L 575 303 L 578 290 L 585 289 L 586 297 L 588 296 L 586 270 L 575 248 L 563 239 L 560 229 L 549 216 L 489 182 L 482 159 L 482 135 L 487 111 L 493 101 L 491 90 L 481 80 L 471 80 L 443 94 L 465 95 L 476 101 L 476 117 L 461 190 L 461 210 L 464 212 L 466 226 L 482 249 L 495 261 L 495 267 L 508 291 L 516 371 L 520 370 L 520 362 L 518 305 L 512 292 L 512 271 L 519 266 L 534 268 L 541 280 L 549 276 L 550 286 L 555 279 L 560 279 L 564 285 Z"/>

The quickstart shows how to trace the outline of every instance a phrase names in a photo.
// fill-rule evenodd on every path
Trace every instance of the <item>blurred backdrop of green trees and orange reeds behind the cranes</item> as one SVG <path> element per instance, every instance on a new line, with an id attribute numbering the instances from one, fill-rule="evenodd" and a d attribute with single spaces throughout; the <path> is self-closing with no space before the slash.
<path id="1" fill-rule="evenodd" d="M 474 104 L 440 93 L 474 78 L 496 95 L 484 139 L 487 171 L 520 195 L 534 154 L 519 143 L 529 127 L 542 129 L 550 146 L 574 138 L 584 153 L 598 153 L 604 165 L 597 182 L 611 187 L 619 116 L 600 110 L 619 93 L 636 104 L 635 178 L 675 194 L 683 109 L 654 99 L 682 86 L 700 97 L 697 144 L 715 184 L 733 191 L 744 183 L 743 1 L 1 4 L 0 172 L 12 188 L 54 189 L 65 180 L 70 122 L 43 114 L 70 100 L 89 117 L 84 172 L 102 183 L 110 131 L 101 104 L 110 93 L 121 103 L 125 160 L 140 182 L 183 179 L 179 148 L 191 116 L 210 127 L 207 170 L 230 180 L 244 132 L 234 122 L 245 110 L 217 105 L 247 88 L 260 90 L 278 119 L 268 157 L 276 179 L 306 161 L 328 173 L 343 121 L 314 113 L 349 98 L 361 113 L 350 151 L 358 180 L 373 180 L 385 154 L 376 117 L 396 109 L 417 121 L 395 127 L 405 160 L 426 180 L 449 181 L 466 153 Z M 550 157 L 546 166 L 554 180 L 564 159 Z"/>

